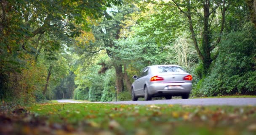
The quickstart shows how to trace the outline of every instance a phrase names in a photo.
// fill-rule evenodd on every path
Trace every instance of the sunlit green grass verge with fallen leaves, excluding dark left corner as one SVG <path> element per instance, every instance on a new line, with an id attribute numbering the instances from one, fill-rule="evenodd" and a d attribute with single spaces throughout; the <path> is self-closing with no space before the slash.
<path id="1" fill-rule="evenodd" d="M 29 110 L 48 116 L 50 123 L 125 135 L 253 135 L 254 130 L 248 127 L 256 124 L 255 106 L 82 103 L 35 105 Z"/>

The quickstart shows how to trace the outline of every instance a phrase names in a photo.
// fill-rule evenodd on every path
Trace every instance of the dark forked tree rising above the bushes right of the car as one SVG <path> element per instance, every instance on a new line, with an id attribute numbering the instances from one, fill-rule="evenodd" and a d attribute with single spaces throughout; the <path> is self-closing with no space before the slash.
<path id="1" fill-rule="evenodd" d="M 187 18 L 191 39 L 193 41 L 197 55 L 203 63 L 203 73 L 206 74 L 214 57 L 212 51 L 221 41 L 221 34 L 224 31 L 225 16 L 229 6 L 232 4 L 228 0 L 171 0 L 167 3 L 160 3 L 154 0 L 144 1 L 168 7 L 169 14 L 181 13 Z M 220 23 L 215 23 L 217 11 L 221 11 Z M 218 29 L 217 29 L 218 28 Z M 217 32 L 219 31 L 219 32 Z M 214 35 L 214 33 L 218 33 Z"/>

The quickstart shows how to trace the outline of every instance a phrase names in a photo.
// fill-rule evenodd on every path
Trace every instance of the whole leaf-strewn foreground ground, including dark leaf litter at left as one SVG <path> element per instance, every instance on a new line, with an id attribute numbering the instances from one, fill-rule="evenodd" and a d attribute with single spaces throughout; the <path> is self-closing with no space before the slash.
<path id="1" fill-rule="evenodd" d="M 14 109 L 15 108 L 15 109 Z M 255 135 L 256 106 L 1 106 L 1 135 Z"/>

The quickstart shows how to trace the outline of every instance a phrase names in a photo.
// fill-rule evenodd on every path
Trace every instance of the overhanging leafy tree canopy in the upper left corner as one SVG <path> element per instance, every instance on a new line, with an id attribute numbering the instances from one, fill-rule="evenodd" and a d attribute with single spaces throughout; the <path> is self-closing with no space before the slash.
<path id="1" fill-rule="evenodd" d="M 55 48 L 74 44 L 74 37 L 89 31 L 91 20 L 108 18 L 106 9 L 121 3 L 121 0 L 1 0 L 0 76 L 4 77 L 0 78 L 0 93 L 12 91 L 8 81 L 15 75 L 22 76 L 28 68 L 27 62 L 32 59 L 37 62 L 42 51 L 47 59 L 54 59 L 60 53 Z M 48 74 L 50 78 L 51 73 Z"/>

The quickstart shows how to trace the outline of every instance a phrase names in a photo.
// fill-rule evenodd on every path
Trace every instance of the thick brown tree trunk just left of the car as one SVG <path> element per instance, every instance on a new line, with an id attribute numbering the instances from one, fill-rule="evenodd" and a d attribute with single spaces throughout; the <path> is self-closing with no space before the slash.
<path id="1" fill-rule="evenodd" d="M 115 65 L 115 85 L 117 87 L 117 93 L 124 91 L 124 84 L 123 84 L 123 70 L 122 65 Z"/>

